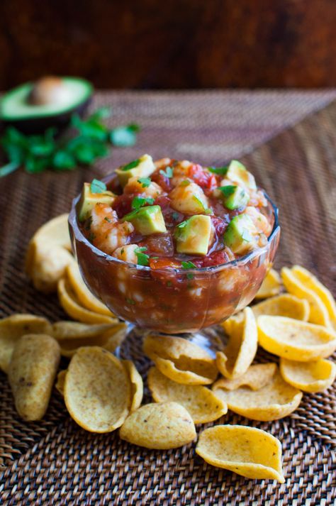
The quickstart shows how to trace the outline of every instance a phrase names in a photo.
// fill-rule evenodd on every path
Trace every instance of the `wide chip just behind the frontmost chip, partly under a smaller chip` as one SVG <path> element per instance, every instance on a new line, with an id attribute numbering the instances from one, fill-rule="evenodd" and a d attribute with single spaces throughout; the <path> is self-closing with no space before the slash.
<path id="1" fill-rule="evenodd" d="M 279 371 L 259 390 L 244 386 L 230 391 L 216 384 L 213 389 L 231 411 L 262 422 L 286 417 L 298 407 L 302 398 L 302 392 L 286 383 Z"/>

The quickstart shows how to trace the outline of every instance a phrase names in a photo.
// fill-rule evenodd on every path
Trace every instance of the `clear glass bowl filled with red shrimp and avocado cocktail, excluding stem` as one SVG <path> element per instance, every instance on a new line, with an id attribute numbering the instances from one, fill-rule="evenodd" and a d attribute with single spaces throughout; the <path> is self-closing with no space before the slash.
<path id="1" fill-rule="evenodd" d="M 69 223 L 94 295 L 121 319 L 171 334 L 249 304 L 279 242 L 276 207 L 236 160 L 143 155 L 84 183 Z"/>

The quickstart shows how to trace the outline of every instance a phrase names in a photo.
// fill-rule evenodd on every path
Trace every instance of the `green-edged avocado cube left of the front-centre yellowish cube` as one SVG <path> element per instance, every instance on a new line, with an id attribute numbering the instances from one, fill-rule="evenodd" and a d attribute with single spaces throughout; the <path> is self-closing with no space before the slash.
<path id="1" fill-rule="evenodd" d="M 142 236 L 167 232 L 161 207 L 159 206 L 140 207 L 140 209 L 126 214 L 123 221 L 130 221 L 135 230 L 141 233 Z"/>

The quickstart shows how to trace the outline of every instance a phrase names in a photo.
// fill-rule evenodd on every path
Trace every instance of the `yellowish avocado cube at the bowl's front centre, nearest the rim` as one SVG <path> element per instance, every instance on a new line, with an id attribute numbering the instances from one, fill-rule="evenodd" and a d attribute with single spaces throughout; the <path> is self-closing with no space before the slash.
<path id="1" fill-rule="evenodd" d="M 174 233 L 177 253 L 206 255 L 211 238 L 211 218 L 204 214 L 191 216 L 177 226 Z"/>

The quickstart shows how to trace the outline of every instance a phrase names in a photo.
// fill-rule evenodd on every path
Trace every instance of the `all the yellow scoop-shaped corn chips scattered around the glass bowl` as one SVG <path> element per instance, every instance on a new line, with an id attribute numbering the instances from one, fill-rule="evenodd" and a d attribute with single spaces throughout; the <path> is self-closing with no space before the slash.
<path id="1" fill-rule="evenodd" d="M 256 297 L 264 300 L 223 322 L 228 341 L 215 358 L 192 339 L 147 334 L 143 350 L 153 362 L 147 377 L 153 402 L 141 405 L 140 373 L 113 354 L 126 325 L 88 290 L 69 248 L 62 215 L 33 236 L 26 271 L 38 290 L 57 290 L 72 321 L 51 324 L 31 314 L 0 320 L 0 368 L 25 420 L 44 416 L 55 384 L 83 429 L 120 428 L 121 439 L 132 444 L 171 449 L 196 439 L 195 424 L 214 422 L 228 409 L 254 420 L 286 417 L 303 392 L 321 392 L 335 380 L 336 365 L 327 360 L 336 349 L 335 299 L 295 265 L 281 276 L 271 269 Z M 258 346 L 274 361 L 254 363 Z M 61 356 L 69 364 L 57 375 Z M 281 444 L 260 429 L 215 425 L 201 431 L 196 453 L 247 478 L 284 483 Z"/>

